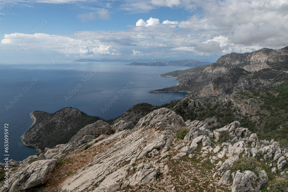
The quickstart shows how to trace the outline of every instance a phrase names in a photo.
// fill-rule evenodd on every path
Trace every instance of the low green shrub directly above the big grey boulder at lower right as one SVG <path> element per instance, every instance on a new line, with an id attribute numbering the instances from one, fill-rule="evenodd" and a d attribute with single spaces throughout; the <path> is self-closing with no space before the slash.
<path id="1" fill-rule="evenodd" d="M 240 157 L 237 161 L 234 162 L 232 169 L 237 171 L 252 171 L 257 174 L 259 171 L 257 169 L 258 163 L 253 157 Z"/>

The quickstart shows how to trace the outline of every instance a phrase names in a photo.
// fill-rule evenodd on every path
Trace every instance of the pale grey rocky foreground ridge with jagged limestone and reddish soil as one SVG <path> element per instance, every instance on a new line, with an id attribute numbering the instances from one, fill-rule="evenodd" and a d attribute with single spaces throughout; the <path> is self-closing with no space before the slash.
<path id="1" fill-rule="evenodd" d="M 99 133 L 97 126 L 105 123 L 97 121 L 86 130 Z M 272 181 L 288 175 L 288 150 L 274 140 L 259 140 L 238 121 L 211 132 L 201 121 L 184 122 L 174 111 L 161 108 L 141 118 L 134 128 L 106 126 L 117 127 L 116 132 L 85 135 L 46 148 L 39 157 L 10 160 L 16 171 L 10 188 L 2 186 L 1 191 L 28 189 L 47 180 L 35 190 L 258 192 L 273 189 Z M 84 135 L 83 130 L 79 133 Z M 243 166 L 247 162 L 249 166 Z M 36 178 L 41 172 L 37 167 L 44 164 L 50 165 L 48 171 Z"/>

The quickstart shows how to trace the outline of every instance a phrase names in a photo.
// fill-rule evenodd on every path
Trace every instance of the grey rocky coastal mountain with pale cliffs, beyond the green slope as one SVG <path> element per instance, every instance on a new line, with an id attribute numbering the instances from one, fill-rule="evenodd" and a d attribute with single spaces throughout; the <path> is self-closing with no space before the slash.
<path id="1" fill-rule="evenodd" d="M 159 91 L 187 91 L 193 98 L 225 96 L 234 90 L 264 88 L 287 82 L 288 47 L 281 50 L 260 49 L 251 53 L 221 56 L 190 79 L 181 79 L 177 86 Z"/>

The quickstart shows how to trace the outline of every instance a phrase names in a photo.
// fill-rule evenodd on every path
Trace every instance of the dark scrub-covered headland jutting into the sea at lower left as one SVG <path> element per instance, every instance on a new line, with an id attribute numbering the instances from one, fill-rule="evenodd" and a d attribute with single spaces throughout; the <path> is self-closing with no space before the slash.
<path id="1" fill-rule="evenodd" d="M 67 143 L 73 135 L 100 117 L 86 115 L 78 109 L 67 107 L 55 113 L 32 111 L 33 125 L 22 135 L 22 143 L 38 150 Z M 59 137 L 61 135 L 61 137 Z"/>

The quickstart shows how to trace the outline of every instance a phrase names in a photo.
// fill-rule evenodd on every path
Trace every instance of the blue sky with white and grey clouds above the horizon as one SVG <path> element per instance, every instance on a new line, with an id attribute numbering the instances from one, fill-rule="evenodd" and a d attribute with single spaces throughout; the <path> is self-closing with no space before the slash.
<path id="1" fill-rule="evenodd" d="M 1 0 L 0 64 L 194 59 L 288 46 L 287 0 Z"/>

